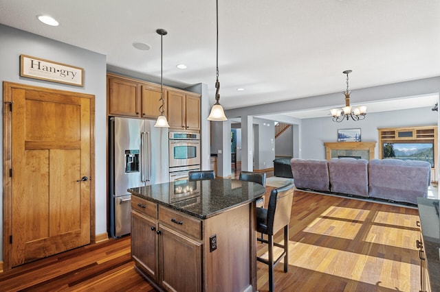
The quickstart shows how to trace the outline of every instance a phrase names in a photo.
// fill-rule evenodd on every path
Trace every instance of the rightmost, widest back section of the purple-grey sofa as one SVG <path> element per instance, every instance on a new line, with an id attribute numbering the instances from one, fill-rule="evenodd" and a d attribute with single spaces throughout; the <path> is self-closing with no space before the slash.
<path id="1" fill-rule="evenodd" d="M 373 159 L 369 162 L 369 195 L 417 204 L 428 197 L 431 165 L 426 161 Z"/>

